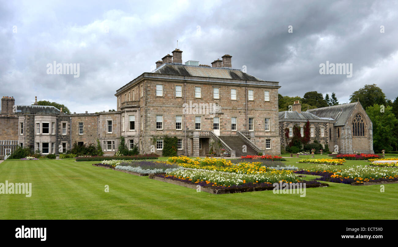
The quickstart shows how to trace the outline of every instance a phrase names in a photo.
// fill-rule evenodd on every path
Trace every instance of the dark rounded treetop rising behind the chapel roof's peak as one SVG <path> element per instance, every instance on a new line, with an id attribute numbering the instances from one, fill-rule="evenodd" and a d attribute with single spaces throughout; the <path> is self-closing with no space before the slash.
<path id="1" fill-rule="evenodd" d="M 363 88 L 359 88 L 359 90 L 353 92 L 349 100 L 351 103 L 359 100 L 363 108 L 366 109 L 368 106 L 373 106 L 374 104 L 385 105 L 386 95 L 376 84 L 372 84 L 365 85 Z"/>

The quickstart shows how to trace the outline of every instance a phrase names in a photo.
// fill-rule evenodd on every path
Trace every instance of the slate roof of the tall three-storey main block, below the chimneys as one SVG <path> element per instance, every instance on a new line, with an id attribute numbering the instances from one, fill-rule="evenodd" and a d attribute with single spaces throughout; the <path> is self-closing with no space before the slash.
<path id="1" fill-rule="evenodd" d="M 261 78 L 252 76 L 238 69 L 191 66 L 180 63 L 165 63 L 154 70 L 153 73 L 265 82 L 265 80 Z"/>

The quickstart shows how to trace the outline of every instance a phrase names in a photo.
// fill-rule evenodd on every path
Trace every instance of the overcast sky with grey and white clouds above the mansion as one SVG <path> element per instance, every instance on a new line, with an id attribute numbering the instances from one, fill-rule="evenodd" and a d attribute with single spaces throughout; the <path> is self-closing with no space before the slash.
<path id="1" fill-rule="evenodd" d="M 396 1 L 6 1 L 0 4 L 0 96 L 56 101 L 71 112 L 116 109 L 115 91 L 177 46 L 182 60 L 232 55 L 232 68 L 278 81 L 279 93 L 336 92 L 365 84 L 398 96 Z M 289 33 L 289 26 L 293 32 Z M 384 32 L 380 32 L 384 26 Z M 80 76 L 47 74 L 78 63 Z M 352 77 L 320 64 L 352 63 Z"/>

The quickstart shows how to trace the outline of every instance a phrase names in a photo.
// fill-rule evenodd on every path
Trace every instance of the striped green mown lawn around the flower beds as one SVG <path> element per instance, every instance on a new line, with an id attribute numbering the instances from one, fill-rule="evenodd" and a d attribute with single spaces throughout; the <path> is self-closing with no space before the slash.
<path id="1" fill-rule="evenodd" d="M 92 163 L 4 161 L 0 182 L 31 182 L 32 196 L 0 194 L 0 219 L 398 219 L 398 184 L 380 192 L 379 185 L 331 183 L 307 188 L 305 197 L 272 191 L 213 195 Z M 367 163 L 347 162 L 357 164 Z"/>

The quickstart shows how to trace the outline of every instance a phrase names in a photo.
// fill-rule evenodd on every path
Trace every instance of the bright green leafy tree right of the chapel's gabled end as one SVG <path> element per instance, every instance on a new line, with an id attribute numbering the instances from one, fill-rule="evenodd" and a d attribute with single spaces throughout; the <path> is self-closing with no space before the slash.
<path id="1" fill-rule="evenodd" d="M 366 113 L 373 123 L 373 150 L 391 151 L 398 143 L 397 136 L 393 134 L 398 120 L 392 113 L 392 107 L 386 106 L 384 112 L 380 112 L 380 105 L 373 104 L 366 108 Z"/>

